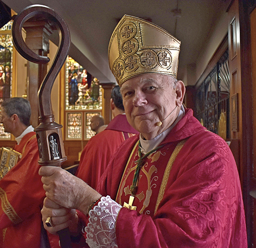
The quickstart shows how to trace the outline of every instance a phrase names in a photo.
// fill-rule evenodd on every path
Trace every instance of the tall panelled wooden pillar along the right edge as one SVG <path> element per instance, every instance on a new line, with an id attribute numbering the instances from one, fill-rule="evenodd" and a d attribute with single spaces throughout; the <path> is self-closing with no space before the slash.
<path id="1" fill-rule="evenodd" d="M 248 247 L 254 247 L 256 206 L 256 178 L 253 177 L 253 87 L 252 78 L 253 54 L 250 40 L 250 24 L 253 27 L 253 13 L 250 1 L 233 0 L 228 9 L 228 39 L 229 39 L 229 71 L 230 71 L 230 122 L 231 139 L 239 139 L 240 143 L 240 179 L 242 183 Z M 255 4 L 254 4 L 255 5 Z M 251 23 L 250 23 L 251 22 Z M 253 38 L 252 32 L 252 38 Z M 255 37 L 255 36 L 254 36 Z M 236 123 L 238 122 L 238 123 Z M 236 128 L 237 127 L 237 128 Z M 255 165 L 254 165 L 255 167 Z M 252 193 L 252 194 L 251 194 Z M 256 193 L 255 193 L 256 195 Z M 253 199 L 254 197 L 254 199 Z M 254 237 L 255 238 L 255 237 Z"/>

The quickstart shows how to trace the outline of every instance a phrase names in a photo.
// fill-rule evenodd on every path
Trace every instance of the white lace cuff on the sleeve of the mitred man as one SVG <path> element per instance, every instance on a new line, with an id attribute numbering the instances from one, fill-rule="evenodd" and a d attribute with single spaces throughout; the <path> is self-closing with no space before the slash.
<path id="1" fill-rule="evenodd" d="M 102 196 L 100 202 L 89 212 L 89 223 L 86 227 L 86 242 L 91 248 L 117 247 L 116 219 L 122 208 L 110 196 Z"/>

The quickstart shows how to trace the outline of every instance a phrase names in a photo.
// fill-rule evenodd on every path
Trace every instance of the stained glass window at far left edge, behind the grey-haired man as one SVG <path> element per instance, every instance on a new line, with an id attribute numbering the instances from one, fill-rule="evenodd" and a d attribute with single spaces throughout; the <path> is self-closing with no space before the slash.
<path id="1" fill-rule="evenodd" d="M 2 102 L 11 97 L 12 89 L 12 20 L 0 29 L 0 107 Z M 0 139 L 10 139 L 10 133 L 4 132 L 0 124 Z"/>

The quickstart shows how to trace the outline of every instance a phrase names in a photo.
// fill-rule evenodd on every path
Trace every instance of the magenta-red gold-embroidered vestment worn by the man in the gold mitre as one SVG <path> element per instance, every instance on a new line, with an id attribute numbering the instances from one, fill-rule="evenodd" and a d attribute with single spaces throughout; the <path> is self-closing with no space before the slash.
<path id="1" fill-rule="evenodd" d="M 138 139 L 120 145 L 98 186 L 122 206 L 129 201 Z M 118 214 L 118 247 L 247 247 L 240 180 L 226 142 L 186 109 L 161 145 L 140 171 L 137 211 Z"/>

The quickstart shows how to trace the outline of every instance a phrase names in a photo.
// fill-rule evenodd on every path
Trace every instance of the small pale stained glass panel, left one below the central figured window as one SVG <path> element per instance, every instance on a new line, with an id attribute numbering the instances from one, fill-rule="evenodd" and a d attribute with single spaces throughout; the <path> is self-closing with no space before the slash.
<path id="1" fill-rule="evenodd" d="M 82 113 L 67 113 L 68 139 L 82 139 Z"/>

